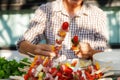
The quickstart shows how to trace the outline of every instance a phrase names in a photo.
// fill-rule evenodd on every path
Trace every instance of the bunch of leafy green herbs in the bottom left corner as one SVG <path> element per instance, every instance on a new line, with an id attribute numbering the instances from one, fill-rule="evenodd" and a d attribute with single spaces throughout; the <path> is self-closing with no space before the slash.
<path id="1" fill-rule="evenodd" d="M 28 58 L 24 58 L 21 61 L 28 62 Z M 17 62 L 15 59 L 6 60 L 5 57 L 0 57 L 0 79 L 7 79 L 9 76 L 21 76 L 24 72 L 18 70 L 18 67 L 23 68 L 25 65 Z"/>

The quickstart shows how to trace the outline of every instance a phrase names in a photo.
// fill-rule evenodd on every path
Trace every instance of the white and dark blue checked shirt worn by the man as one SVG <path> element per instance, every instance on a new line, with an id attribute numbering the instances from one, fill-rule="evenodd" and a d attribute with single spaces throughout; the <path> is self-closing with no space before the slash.
<path id="1" fill-rule="evenodd" d="M 71 38 L 78 35 L 81 42 L 87 42 L 95 50 L 105 50 L 108 47 L 108 31 L 106 26 L 106 15 L 104 12 L 92 5 L 83 4 L 82 8 L 70 17 L 64 9 L 62 0 L 56 0 L 42 4 L 31 19 L 29 29 L 18 41 L 27 40 L 32 44 L 38 44 L 46 39 L 47 44 L 55 44 L 56 35 L 63 22 L 69 23 L 67 33 L 60 54 L 67 58 L 75 58 L 71 48 Z"/>

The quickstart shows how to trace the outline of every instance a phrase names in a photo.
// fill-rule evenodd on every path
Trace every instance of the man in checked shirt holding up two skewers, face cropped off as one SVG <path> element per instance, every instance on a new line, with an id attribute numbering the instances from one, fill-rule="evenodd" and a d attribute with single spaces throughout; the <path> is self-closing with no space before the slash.
<path id="1" fill-rule="evenodd" d="M 29 29 L 18 42 L 18 50 L 25 54 L 55 55 L 51 45 L 55 44 L 63 22 L 69 23 L 69 31 L 59 51 L 60 55 L 88 59 L 108 48 L 106 16 L 101 9 L 86 4 L 84 0 L 56 0 L 43 4 L 36 10 Z M 77 55 L 71 50 L 71 38 L 74 35 L 80 39 Z M 39 43 L 42 39 L 46 39 L 46 44 Z"/>

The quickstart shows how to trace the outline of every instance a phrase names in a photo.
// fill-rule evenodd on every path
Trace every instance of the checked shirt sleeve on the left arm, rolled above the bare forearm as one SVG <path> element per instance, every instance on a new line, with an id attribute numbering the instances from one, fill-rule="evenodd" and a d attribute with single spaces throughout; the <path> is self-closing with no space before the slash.
<path id="1" fill-rule="evenodd" d="M 35 11 L 34 17 L 30 20 L 29 27 L 26 32 L 19 38 L 17 42 L 17 48 L 19 44 L 27 40 L 32 44 L 38 44 L 42 39 L 44 39 L 46 14 L 43 7 L 39 7 Z"/>

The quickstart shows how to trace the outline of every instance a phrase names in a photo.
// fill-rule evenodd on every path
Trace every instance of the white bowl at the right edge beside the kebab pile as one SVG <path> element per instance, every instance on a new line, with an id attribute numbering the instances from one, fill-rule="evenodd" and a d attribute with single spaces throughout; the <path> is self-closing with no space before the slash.
<path id="1" fill-rule="evenodd" d="M 120 70 L 120 52 L 117 50 L 101 52 L 93 55 L 93 63 L 99 63 L 100 67 L 111 66 L 112 70 Z"/>

